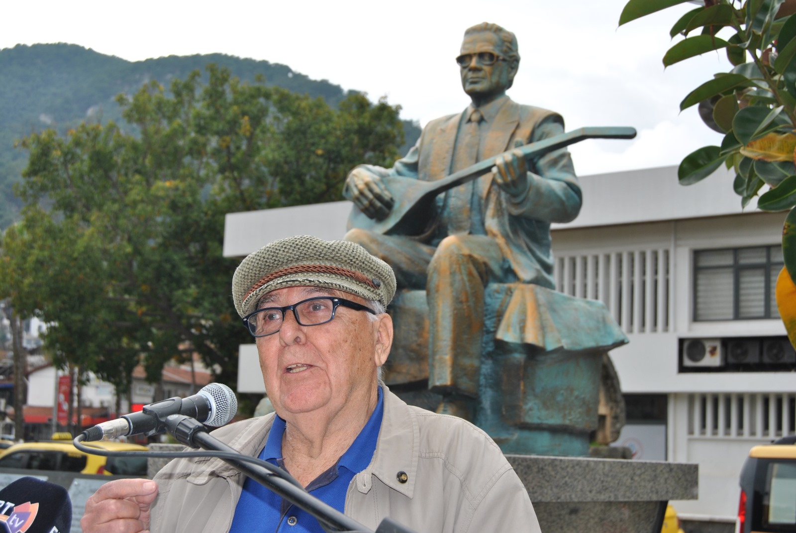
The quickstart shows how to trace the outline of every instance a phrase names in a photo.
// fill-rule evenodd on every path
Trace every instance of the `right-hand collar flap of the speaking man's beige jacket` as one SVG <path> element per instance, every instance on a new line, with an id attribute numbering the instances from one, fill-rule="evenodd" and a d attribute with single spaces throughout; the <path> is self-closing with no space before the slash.
<path id="1" fill-rule="evenodd" d="M 379 440 L 368 468 L 359 472 L 357 490 L 363 494 L 373 485 L 373 476 L 389 488 L 408 498 L 415 493 L 419 460 L 420 430 L 417 418 L 406 403 L 384 389 L 384 417 L 381 419 Z M 411 436 L 411 438 L 410 438 Z M 410 445 L 411 444 L 411 445 Z M 398 480 L 400 472 L 408 476 L 406 483 Z"/>

